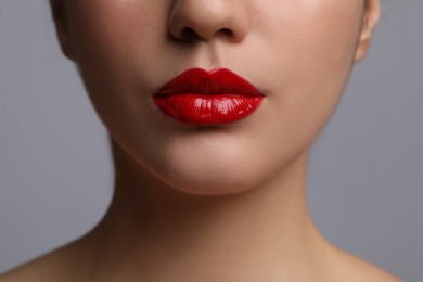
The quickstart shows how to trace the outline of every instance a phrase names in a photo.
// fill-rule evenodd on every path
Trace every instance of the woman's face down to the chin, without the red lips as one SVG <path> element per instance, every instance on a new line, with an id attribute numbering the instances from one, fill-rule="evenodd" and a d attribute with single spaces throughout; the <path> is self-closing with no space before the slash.
<path id="1" fill-rule="evenodd" d="M 229 194 L 307 152 L 366 54 L 377 17 L 366 12 L 364 0 L 65 0 L 57 24 L 117 144 L 175 189 Z M 234 123 L 176 120 L 153 95 L 191 68 L 228 68 L 264 99 Z"/>

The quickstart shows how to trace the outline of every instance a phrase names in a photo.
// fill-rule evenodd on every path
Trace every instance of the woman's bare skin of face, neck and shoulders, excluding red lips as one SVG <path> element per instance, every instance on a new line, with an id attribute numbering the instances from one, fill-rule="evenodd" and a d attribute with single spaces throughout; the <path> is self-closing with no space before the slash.
<path id="1" fill-rule="evenodd" d="M 1 282 L 399 281 L 328 243 L 306 202 L 309 149 L 368 53 L 379 0 L 52 8 L 111 134 L 116 190 L 94 230 Z M 180 124 L 152 94 L 193 67 L 229 68 L 266 98 L 231 125 Z"/>

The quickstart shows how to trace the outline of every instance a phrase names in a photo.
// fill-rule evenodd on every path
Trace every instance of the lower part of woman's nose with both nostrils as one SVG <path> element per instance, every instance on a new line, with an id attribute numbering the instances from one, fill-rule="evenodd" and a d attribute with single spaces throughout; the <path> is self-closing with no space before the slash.
<path id="1" fill-rule="evenodd" d="M 177 0 L 169 18 L 169 30 L 181 41 L 220 37 L 242 41 L 248 30 L 244 0 Z"/>

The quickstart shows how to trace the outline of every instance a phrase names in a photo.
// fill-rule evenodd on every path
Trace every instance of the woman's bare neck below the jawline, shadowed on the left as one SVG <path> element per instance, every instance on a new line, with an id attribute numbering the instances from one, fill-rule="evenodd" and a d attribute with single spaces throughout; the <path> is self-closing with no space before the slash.
<path id="1" fill-rule="evenodd" d="M 321 238 L 306 205 L 307 155 L 251 191 L 197 196 L 167 187 L 114 145 L 115 196 L 91 233 L 98 269 L 145 281 L 310 278 Z"/>

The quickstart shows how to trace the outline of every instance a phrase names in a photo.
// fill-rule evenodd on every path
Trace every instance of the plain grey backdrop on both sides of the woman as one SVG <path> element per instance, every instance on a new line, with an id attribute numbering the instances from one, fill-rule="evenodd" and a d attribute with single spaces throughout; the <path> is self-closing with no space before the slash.
<path id="1" fill-rule="evenodd" d="M 423 281 L 423 1 L 382 1 L 312 151 L 309 203 L 333 243 Z M 59 51 L 47 0 L 0 1 L 0 272 L 75 240 L 102 217 L 106 133 Z"/>

